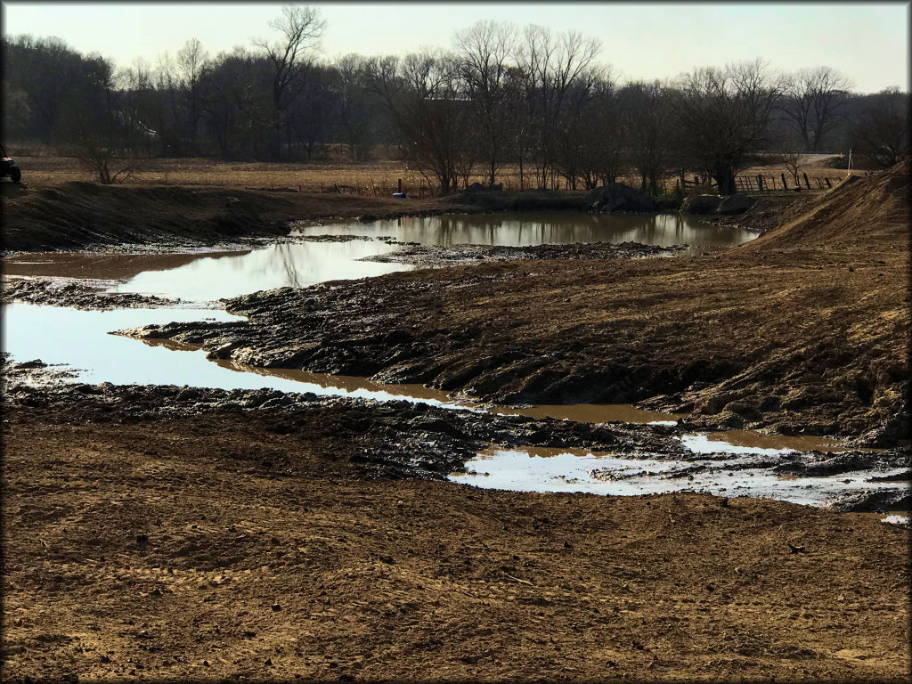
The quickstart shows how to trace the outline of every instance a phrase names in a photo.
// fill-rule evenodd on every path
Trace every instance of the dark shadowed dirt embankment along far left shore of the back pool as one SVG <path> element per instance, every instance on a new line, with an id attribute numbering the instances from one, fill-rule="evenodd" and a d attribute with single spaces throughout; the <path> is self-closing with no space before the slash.
<path id="1" fill-rule="evenodd" d="M 12 187 L 12 189 L 11 189 Z M 239 188 L 98 185 L 71 181 L 32 191 L 5 183 L 5 252 L 106 249 L 121 244 L 181 248 L 280 237 L 297 220 L 479 211 L 582 211 L 586 193 L 466 192 L 394 200 Z"/>

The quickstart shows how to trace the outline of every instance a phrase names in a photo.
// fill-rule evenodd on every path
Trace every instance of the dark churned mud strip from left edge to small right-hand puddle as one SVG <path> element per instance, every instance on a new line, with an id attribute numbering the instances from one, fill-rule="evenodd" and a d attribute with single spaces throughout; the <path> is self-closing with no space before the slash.
<path id="1" fill-rule="evenodd" d="M 649 452 L 680 457 L 687 451 L 673 439 L 682 431 L 676 426 L 533 420 L 271 389 L 57 384 L 47 381 L 47 367 L 40 362 L 6 361 L 4 376 L 5 409 L 27 411 L 33 420 L 58 424 L 177 420 L 212 413 L 227 417 L 255 409 L 255 418 L 247 420 L 261 420 L 276 434 L 322 426 L 319 430 L 326 438 L 336 435 L 345 443 L 340 451 L 361 476 L 445 479 L 490 442 L 610 449 L 629 456 Z M 281 471 L 289 465 L 275 462 L 269 468 Z"/>

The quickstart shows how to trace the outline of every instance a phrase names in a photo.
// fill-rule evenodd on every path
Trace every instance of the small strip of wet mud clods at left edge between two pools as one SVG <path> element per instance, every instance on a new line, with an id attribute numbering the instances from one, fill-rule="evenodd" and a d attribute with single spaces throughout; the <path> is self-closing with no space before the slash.
<path id="1" fill-rule="evenodd" d="M 72 306 L 78 309 L 155 308 L 179 302 L 155 295 L 106 293 L 103 285 L 78 278 L 26 278 L 9 276 L 3 280 L 3 303 L 26 302 L 46 306 Z"/>

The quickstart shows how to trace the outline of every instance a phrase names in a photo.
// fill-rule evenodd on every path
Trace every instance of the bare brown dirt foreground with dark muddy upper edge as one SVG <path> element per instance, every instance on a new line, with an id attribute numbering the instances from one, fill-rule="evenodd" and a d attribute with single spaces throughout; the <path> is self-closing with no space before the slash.
<path id="1" fill-rule="evenodd" d="M 5 679 L 907 675 L 907 532 L 874 516 L 360 477 L 467 430 L 433 409 L 7 389 Z"/>

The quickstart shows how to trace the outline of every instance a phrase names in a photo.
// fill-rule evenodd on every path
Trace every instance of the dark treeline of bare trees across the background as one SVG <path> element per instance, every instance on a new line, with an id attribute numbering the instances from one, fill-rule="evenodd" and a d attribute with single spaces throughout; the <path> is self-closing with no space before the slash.
<path id="1" fill-rule="evenodd" d="M 5 140 L 105 170 L 102 158 L 150 155 L 312 161 L 342 149 L 362 161 L 386 146 L 441 192 L 479 174 L 494 184 L 510 166 L 525 187 L 635 175 L 658 194 L 698 171 L 725 193 L 759 152 L 782 152 L 797 172 L 808 151 L 851 148 L 878 166 L 908 151 L 908 94 L 853 92 L 829 67 L 775 74 L 757 60 L 622 83 L 598 41 L 541 26 L 480 22 L 450 50 L 334 60 L 316 51 L 318 10 L 288 6 L 269 26 L 272 42 L 211 57 L 194 39 L 154 68 L 5 37 Z"/>

